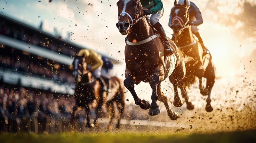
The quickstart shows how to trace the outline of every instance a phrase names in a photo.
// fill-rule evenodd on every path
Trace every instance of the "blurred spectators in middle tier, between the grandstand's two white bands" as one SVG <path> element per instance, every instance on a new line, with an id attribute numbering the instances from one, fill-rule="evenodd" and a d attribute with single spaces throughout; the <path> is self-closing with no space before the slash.
<path id="1" fill-rule="evenodd" d="M 60 83 L 74 83 L 71 71 L 63 69 L 60 64 L 50 64 L 47 61 L 35 62 L 33 60 L 22 59 L 22 56 L 0 55 L 0 67 L 9 68 L 17 72 L 26 72 L 33 75 L 43 76 Z"/>

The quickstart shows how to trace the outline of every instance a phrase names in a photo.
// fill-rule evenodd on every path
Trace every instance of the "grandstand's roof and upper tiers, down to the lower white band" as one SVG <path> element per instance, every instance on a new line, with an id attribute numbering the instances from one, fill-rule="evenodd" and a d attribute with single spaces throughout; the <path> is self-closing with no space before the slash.
<path id="1" fill-rule="evenodd" d="M 84 48 L 0 15 L 0 80 L 4 83 L 73 94 L 69 66 Z"/>

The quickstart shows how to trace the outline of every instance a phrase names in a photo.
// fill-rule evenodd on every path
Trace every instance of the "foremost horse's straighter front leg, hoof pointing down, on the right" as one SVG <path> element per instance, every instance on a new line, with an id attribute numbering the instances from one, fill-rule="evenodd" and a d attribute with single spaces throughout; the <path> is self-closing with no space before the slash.
<path id="1" fill-rule="evenodd" d="M 161 112 L 159 106 L 156 103 L 156 101 L 158 100 L 156 87 L 159 84 L 160 80 L 163 80 L 163 79 L 164 79 L 164 67 L 162 64 L 158 64 L 158 66 L 154 70 L 154 74 L 151 76 L 151 79 L 150 79 L 150 84 L 152 85 L 152 89 L 153 89 L 152 95 L 151 95 L 152 103 L 148 111 L 148 115 L 150 116 L 158 115 Z"/>

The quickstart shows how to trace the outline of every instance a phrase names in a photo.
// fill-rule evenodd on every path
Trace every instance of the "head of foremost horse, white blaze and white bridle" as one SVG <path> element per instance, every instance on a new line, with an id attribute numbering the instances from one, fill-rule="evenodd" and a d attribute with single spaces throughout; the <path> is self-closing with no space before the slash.
<path id="1" fill-rule="evenodd" d="M 140 15 L 144 15 L 143 8 L 139 0 L 119 0 L 116 5 L 119 18 L 116 27 L 121 34 L 126 35 Z"/>

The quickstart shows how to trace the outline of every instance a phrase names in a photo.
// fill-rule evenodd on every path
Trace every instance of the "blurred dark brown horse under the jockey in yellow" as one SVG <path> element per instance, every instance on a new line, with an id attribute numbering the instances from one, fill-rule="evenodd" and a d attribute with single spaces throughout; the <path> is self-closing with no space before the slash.
<path id="1" fill-rule="evenodd" d="M 73 114 L 71 120 L 75 118 L 75 112 L 77 107 L 84 107 L 87 114 L 87 124 L 86 127 L 91 128 L 92 124 L 90 124 L 90 109 L 89 104 L 91 104 L 94 100 L 97 103 L 96 109 L 96 118 L 93 121 L 93 125 L 97 125 L 97 120 L 99 117 L 99 112 L 101 110 L 102 105 L 106 105 L 108 111 L 110 111 L 110 122 L 108 124 L 108 129 L 111 127 L 112 120 L 115 117 L 114 103 L 116 103 L 117 108 L 119 110 L 119 115 L 117 119 L 116 128 L 120 127 L 120 120 L 124 113 L 124 86 L 122 84 L 121 79 L 118 77 L 111 77 L 110 79 L 104 79 L 106 81 L 107 86 L 111 89 L 110 93 L 107 93 L 107 96 L 104 96 L 104 92 L 100 91 L 100 83 L 95 81 L 92 78 L 91 72 L 86 71 L 86 63 L 84 62 L 84 58 L 77 57 L 73 62 L 74 75 L 76 79 L 76 87 L 75 87 L 75 100 L 76 105 L 73 108 Z"/>

